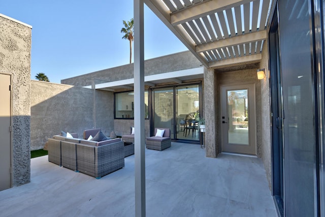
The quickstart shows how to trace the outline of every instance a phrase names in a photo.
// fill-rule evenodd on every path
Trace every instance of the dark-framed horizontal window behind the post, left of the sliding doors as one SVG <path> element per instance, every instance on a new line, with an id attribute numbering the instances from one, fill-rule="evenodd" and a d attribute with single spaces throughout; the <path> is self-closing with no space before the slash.
<path id="1" fill-rule="evenodd" d="M 145 118 L 149 118 L 148 91 L 144 92 Z M 115 118 L 134 118 L 134 92 L 115 94 Z"/>

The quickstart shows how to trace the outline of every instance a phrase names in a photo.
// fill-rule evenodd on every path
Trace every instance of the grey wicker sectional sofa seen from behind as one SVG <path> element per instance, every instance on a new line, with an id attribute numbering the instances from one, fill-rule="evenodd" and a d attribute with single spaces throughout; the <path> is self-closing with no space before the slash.
<path id="1" fill-rule="evenodd" d="M 49 162 L 95 178 L 124 167 L 121 138 L 96 142 L 57 135 L 48 139 L 47 149 Z"/>

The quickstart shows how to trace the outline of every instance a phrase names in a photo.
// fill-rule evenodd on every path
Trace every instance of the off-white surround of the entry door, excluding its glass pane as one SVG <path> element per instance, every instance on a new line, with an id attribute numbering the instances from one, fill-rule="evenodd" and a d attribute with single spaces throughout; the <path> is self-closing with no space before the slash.
<path id="1" fill-rule="evenodd" d="M 227 89 L 228 88 L 228 89 Z M 249 138 L 249 145 L 248 146 L 242 146 L 241 145 L 237 145 L 237 147 L 234 146 L 234 148 L 232 148 L 231 150 L 224 150 L 224 145 L 225 142 L 228 144 L 228 130 L 224 130 L 225 126 L 224 124 L 226 122 L 228 122 L 228 116 L 225 115 L 225 117 L 223 119 L 224 116 L 224 109 L 226 109 L 226 112 L 228 113 L 228 103 L 227 105 L 224 105 L 224 103 L 226 103 L 226 99 L 224 99 L 226 97 L 224 91 L 227 90 L 236 90 L 236 89 L 248 89 L 248 105 L 249 105 L 249 115 L 248 117 L 250 118 L 248 121 L 249 124 L 249 129 L 248 129 L 248 138 Z M 256 156 L 257 155 L 257 142 L 256 142 L 256 90 L 255 90 L 255 84 L 254 83 L 240 83 L 240 84 L 231 84 L 231 85 L 220 85 L 220 106 L 221 106 L 221 110 L 220 110 L 220 129 L 221 129 L 221 152 L 225 151 L 225 152 L 234 152 L 234 153 L 239 153 L 239 154 L 249 154 L 252 156 Z M 226 107 L 226 108 L 224 108 Z M 223 123 L 222 121 L 225 121 L 225 123 Z M 229 125 L 227 124 L 226 126 L 229 127 Z M 227 135 L 226 139 L 225 139 L 225 135 Z M 249 148 L 248 148 L 249 147 Z M 236 150 L 237 149 L 237 150 Z M 244 149 L 248 149 L 248 151 L 244 151 Z"/>

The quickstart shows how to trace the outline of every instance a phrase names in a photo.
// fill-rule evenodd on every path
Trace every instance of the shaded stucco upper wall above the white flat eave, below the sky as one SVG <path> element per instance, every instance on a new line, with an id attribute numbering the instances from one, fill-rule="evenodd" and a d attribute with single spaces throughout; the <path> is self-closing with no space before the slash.
<path id="1" fill-rule="evenodd" d="M 158 58 L 145 60 L 145 75 L 174 72 L 185 69 L 198 68 L 202 65 L 200 61 L 190 52 L 184 51 Z M 96 78 L 96 83 L 103 81 L 116 81 L 134 77 L 133 64 L 105 69 L 72 78 L 61 80 L 62 84 L 75 86 L 88 86 L 92 84 L 92 79 Z"/>

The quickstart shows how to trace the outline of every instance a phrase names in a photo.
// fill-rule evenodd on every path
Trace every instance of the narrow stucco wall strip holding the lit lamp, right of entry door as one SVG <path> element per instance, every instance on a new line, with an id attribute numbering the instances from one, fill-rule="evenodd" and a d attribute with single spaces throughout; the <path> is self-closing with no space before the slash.
<path id="1" fill-rule="evenodd" d="M 267 43 L 265 43 L 267 45 Z M 271 148 L 271 107 L 270 107 L 270 71 L 269 71 L 269 50 L 268 46 L 263 46 L 262 61 L 259 66 L 261 69 L 266 70 L 266 76 L 263 80 L 259 80 L 261 84 L 261 126 L 260 130 L 260 142 L 261 142 L 261 154 L 264 163 L 266 175 L 269 181 L 269 187 L 271 189 L 272 183 L 272 148 Z"/>

